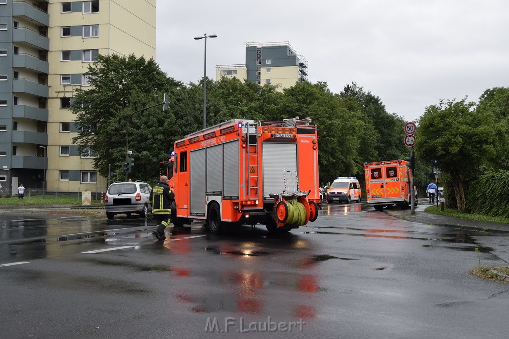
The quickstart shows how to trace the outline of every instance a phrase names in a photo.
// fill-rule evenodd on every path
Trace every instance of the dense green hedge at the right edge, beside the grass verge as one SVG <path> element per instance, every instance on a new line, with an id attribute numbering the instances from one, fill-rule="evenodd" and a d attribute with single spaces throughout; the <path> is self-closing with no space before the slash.
<path id="1" fill-rule="evenodd" d="M 468 187 L 470 213 L 509 218 L 509 171 L 486 173 Z"/>

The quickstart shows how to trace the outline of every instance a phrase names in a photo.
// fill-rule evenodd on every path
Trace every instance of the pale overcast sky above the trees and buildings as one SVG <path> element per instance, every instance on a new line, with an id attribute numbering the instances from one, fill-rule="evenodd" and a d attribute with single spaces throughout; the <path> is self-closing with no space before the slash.
<path id="1" fill-rule="evenodd" d="M 156 61 L 197 83 L 215 66 L 243 64 L 244 42 L 288 41 L 308 80 L 333 93 L 356 82 L 406 120 L 440 99 L 477 102 L 509 86 L 507 0 L 157 0 Z"/>

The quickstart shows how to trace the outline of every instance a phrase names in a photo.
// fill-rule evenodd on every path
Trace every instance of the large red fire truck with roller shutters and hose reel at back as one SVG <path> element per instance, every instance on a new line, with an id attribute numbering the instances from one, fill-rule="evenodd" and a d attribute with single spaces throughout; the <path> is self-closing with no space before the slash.
<path id="1" fill-rule="evenodd" d="M 310 118 L 232 119 L 191 133 L 175 143 L 161 173 L 175 192 L 176 226 L 202 220 L 214 234 L 241 224 L 290 231 L 315 221 L 320 209 Z"/>

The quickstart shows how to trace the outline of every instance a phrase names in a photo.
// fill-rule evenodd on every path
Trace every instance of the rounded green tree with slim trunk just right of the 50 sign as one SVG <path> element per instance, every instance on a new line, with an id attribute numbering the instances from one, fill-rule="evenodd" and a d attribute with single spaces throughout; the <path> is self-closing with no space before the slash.
<path id="1" fill-rule="evenodd" d="M 466 210 L 467 183 L 496 155 L 500 125 L 492 112 L 475 110 L 473 102 L 441 100 L 426 108 L 419 119 L 416 154 L 438 161 L 450 175 L 458 209 Z"/>

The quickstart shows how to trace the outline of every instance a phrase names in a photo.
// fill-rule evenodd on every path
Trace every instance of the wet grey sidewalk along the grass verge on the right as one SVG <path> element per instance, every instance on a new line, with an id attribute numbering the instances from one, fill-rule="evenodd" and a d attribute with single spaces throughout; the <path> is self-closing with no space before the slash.
<path id="1" fill-rule="evenodd" d="M 446 217 L 444 215 L 437 215 L 427 213 L 424 210 L 431 206 L 427 200 L 419 200 L 419 204 L 415 207 L 415 214 L 411 214 L 409 209 L 399 209 L 396 207 L 384 208 L 384 213 L 391 215 L 394 218 L 399 218 L 414 223 L 445 226 L 445 227 L 461 227 L 463 229 L 471 229 L 477 231 L 507 233 L 509 234 L 509 224 L 491 223 L 475 220 L 467 220 L 453 217 Z"/>

